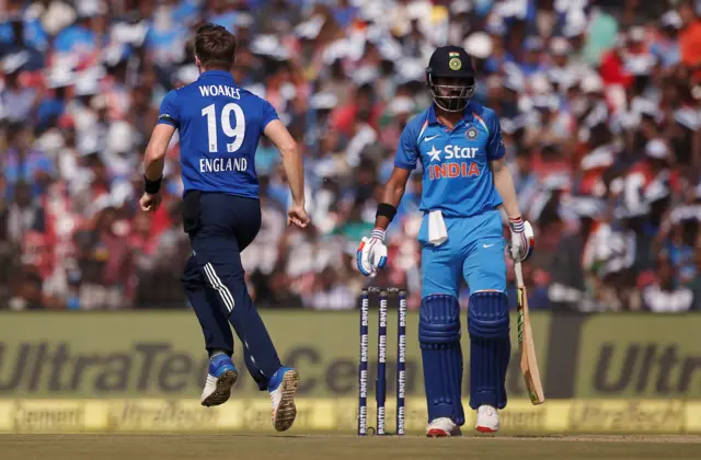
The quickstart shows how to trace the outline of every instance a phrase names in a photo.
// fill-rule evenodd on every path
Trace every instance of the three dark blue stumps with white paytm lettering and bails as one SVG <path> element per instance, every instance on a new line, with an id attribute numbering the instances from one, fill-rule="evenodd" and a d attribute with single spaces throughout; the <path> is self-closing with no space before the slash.
<path id="1" fill-rule="evenodd" d="M 377 379 L 375 380 L 375 400 L 377 403 L 377 428 L 375 434 L 387 435 L 384 426 L 384 402 L 387 400 L 387 321 L 388 298 L 390 294 L 399 297 L 397 324 L 397 435 L 404 434 L 405 390 L 406 390 L 406 292 L 399 288 L 368 287 L 360 295 L 360 366 L 358 372 L 358 436 L 368 434 L 368 323 L 370 320 L 369 292 L 379 295 Z"/>

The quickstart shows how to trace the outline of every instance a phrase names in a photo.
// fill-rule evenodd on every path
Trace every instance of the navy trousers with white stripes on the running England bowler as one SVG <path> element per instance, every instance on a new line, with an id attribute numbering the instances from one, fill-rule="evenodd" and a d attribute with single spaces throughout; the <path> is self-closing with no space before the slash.
<path id="1" fill-rule="evenodd" d="M 261 390 L 280 368 L 280 360 L 244 281 L 241 252 L 261 229 L 261 203 L 223 193 L 188 192 L 184 197 L 184 228 L 193 255 L 182 277 L 205 335 L 208 350 L 233 353 L 233 326 L 243 357 Z"/>

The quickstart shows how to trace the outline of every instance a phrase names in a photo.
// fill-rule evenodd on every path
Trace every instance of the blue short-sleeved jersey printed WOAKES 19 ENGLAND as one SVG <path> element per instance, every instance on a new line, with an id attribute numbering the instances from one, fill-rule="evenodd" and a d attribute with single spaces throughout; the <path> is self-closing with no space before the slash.
<path id="1" fill-rule="evenodd" d="M 267 101 L 237 84 L 223 70 L 163 97 L 158 123 L 180 131 L 184 192 L 222 192 L 258 197 L 254 156 L 263 130 L 277 112 Z"/>

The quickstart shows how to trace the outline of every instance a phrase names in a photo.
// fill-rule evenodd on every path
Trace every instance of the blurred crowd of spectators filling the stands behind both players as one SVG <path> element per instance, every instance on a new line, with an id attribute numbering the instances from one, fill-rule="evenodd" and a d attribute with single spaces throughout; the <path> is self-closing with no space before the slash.
<path id="1" fill-rule="evenodd" d="M 136 202 L 160 102 L 197 78 L 192 31 L 214 22 L 238 37 L 235 80 L 304 152 L 303 231 L 285 226 L 278 152 L 256 153 L 263 228 L 244 266 L 258 306 L 356 306 L 355 250 L 404 124 L 430 103 L 424 68 L 458 44 L 536 229 L 531 308 L 700 310 L 700 3 L 0 0 L 0 309 L 186 308 L 177 139 L 162 208 Z M 407 287 L 413 309 L 420 196 L 416 172 L 372 280 Z"/>

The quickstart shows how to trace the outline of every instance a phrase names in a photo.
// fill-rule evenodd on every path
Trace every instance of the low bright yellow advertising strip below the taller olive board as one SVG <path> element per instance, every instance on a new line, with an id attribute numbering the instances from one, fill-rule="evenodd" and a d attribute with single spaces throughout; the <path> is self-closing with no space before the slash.
<path id="1" fill-rule="evenodd" d="M 374 407 L 368 409 L 369 421 L 374 421 Z M 467 415 L 466 428 L 470 428 L 474 412 Z M 352 398 L 300 399 L 290 433 L 355 433 L 356 416 L 357 401 Z M 393 421 L 391 405 L 387 417 Z M 425 429 L 423 399 L 407 400 L 405 422 L 410 433 Z M 533 406 L 529 400 L 515 400 L 502 411 L 501 422 L 506 434 L 701 434 L 701 401 L 552 400 Z M 389 433 L 393 425 L 389 422 Z M 192 399 L 0 400 L 0 434 L 250 430 L 274 433 L 267 398 L 232 400 L 210 409 Z"/>

